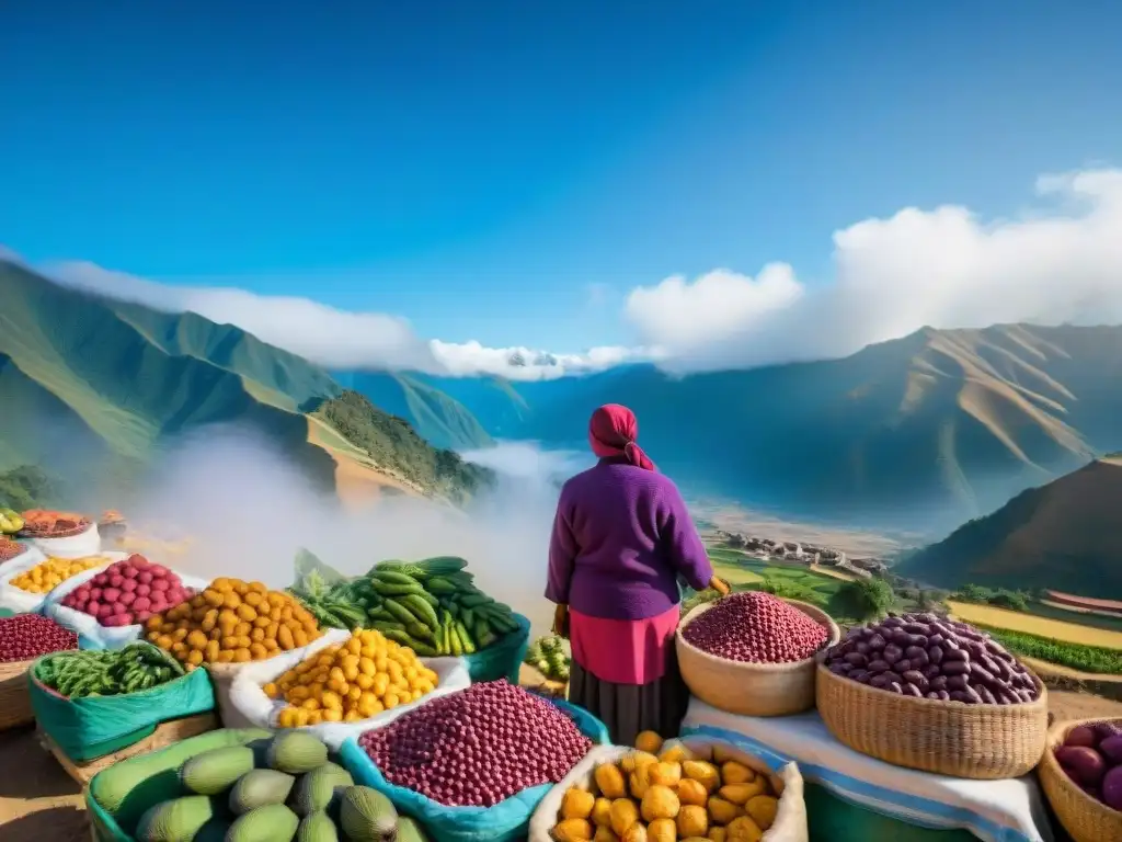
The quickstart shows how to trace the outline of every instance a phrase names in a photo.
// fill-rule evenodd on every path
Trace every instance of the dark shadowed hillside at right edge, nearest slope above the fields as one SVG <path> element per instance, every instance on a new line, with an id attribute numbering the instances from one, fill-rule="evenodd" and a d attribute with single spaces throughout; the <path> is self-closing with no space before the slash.
<path id="1" fill-rule="evenodd" d="M 966 583 L 1122 594 L 1122 461 L 1104 458 L 1013 497 L 901 561 L 894 571 L 940 587 Z"/>

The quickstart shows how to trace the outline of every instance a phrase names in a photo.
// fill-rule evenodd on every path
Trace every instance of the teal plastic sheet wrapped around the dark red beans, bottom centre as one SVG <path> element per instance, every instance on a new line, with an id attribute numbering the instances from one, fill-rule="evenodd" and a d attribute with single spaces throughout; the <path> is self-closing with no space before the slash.
<path id="1" fill-rule="evenodd" d="M 527 626 L 528 628 L 528 626 Z M 560 699 L 545 699 L 560 707 L 586 736 L 608 743 L 607 726 L 582 707 Z M 416 818 L 433 842 L 515 842 L 525 838 L 530 817 L 552 789 L 552 784 L 524 789 L 494 807 L 448 807 L 412 789 L 387 781 L 369 754 L 353 738 L 343 743 L 343 766 L 357 784 L 385 794 L 402 813 Z"/>

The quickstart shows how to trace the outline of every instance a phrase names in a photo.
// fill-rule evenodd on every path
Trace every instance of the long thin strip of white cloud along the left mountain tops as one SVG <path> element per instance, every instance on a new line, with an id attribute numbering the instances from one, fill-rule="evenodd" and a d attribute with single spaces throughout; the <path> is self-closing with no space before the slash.
<path id="1" fill-rule="evenodd" d="M 10 250 L 7 254 L 8 259 L 18 259 Z M 0 253 L 0 258 L 4 256 Z M 43 271 L 59 283 L 108 298 L 236 324 L 263 341 L 331 369 L 493 374 L 525 381 L 601 370 L 641 356 L 615 347 L 565 355 L 530 348 L 487 348 L 476 341 L 425 340 L 408 321 L 395 315 L 347 312 L 310 299 L 258 295 L 234 287 L 172 286 L 80 260 L 54 263 Z"/>

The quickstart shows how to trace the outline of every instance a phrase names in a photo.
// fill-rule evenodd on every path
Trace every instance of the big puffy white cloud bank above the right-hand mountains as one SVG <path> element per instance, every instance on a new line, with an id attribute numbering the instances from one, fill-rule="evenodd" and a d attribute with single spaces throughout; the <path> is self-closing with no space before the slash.
<path id="1" fill-rule="evenodd" d="M 625 315 L 680 373 L 840 357 L 925 326 L 1122 322 L 1122 171 L 1043 176 L 1037 193 L 1051 207 L 1014 220 L 945 205 L 857 222 L 818 286 L 783 264 L 721 269 L 633 290 Z"/>

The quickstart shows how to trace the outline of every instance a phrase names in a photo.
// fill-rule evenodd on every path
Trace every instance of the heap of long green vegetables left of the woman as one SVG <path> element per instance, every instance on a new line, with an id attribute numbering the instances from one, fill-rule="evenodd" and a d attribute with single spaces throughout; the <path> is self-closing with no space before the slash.
<path id="1" fill-rule="evenodd" d="M 377 629 L 417 655 L 459 657 L 518 629 L 508 606 L 475 586 L 467 565 L 451 556 L 383 561 L 331 586 L 313 570 L 292 592 L 324 626 Z"/>

